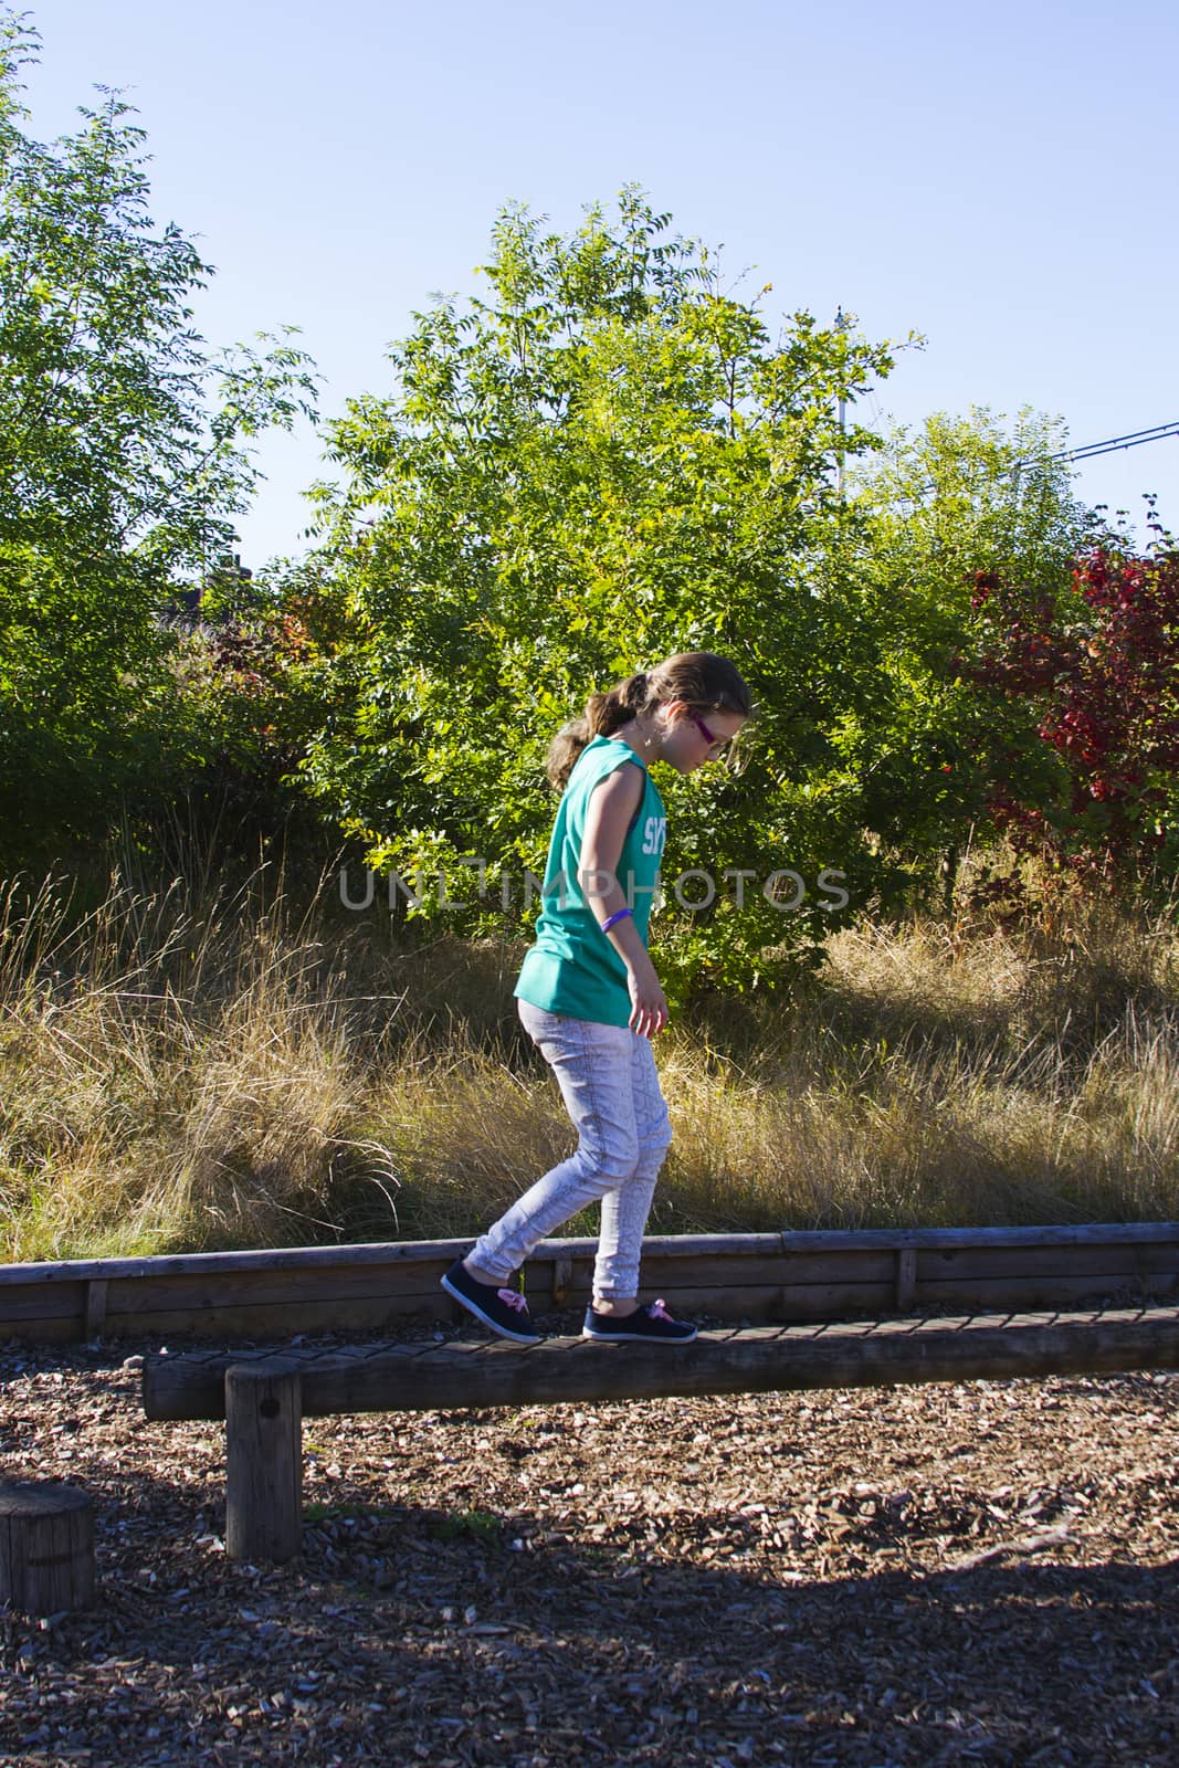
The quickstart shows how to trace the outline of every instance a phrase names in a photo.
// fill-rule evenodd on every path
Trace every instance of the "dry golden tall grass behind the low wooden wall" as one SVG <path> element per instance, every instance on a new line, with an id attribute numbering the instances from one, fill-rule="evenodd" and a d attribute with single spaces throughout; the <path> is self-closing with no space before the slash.
<path id="1" fill-rule="evenodd" d="M 398 953 L 265 873 L 203 905 L 115 884 L 81 918 L 11 886 L 4 1255 L 475 1232 L 571 1146 L 518 955 Z M 661 1040 L 652 1231 L 1172 1218 L 1177 1015 L 1170 916 L 864 923 L 790 1002 Z"/>

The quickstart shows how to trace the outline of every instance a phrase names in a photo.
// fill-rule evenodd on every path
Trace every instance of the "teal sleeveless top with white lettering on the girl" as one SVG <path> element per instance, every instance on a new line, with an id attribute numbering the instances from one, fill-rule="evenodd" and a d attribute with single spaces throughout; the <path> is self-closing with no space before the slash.
<path id="1" fill-rule="evenodd" d="M 666 812 L 656 785 L 635 750 L 612 737 L 594 737 L 582 750 L 569 774 L 553 836 L 548 843 L 541 914 L 536 944 L 525 955 L 516 995 L 564 1018 L 587 1018 L 597 1025 L 626 1025 L 631 995 L 626 964 L 597 925 L 578 882 L 582 840 L 594 787 L 619 767 L 638 767 L 643 796 L 631 822 L 617 879 L 635 912 L 635 926 L 647 944 L 647 923 L 659 888 L 659 861 L 666 840 Z"/>

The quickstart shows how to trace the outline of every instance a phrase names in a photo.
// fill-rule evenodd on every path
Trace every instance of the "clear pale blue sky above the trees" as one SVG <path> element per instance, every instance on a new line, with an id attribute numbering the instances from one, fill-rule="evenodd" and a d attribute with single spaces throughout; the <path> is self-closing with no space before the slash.
<path id="1" fill-rule="evenodd" d="M 767 313 L 926 336 L 873 417 L 1059 414 L 1073 446 L 1179 419 L 1174 0 L 32 0 L 46 140 L 138 108 L 157 221 L 217 267 L 212 343 L 293 324 L 323 412 L 389 387 L 431 292 L 468 292 L 511 200 L 576 226 L 640 184 Z M 262 449 L 242 557 L 297 553 L 306 428 Z M 1179 527 L 1179 438 L 1076 490 Z"/>

